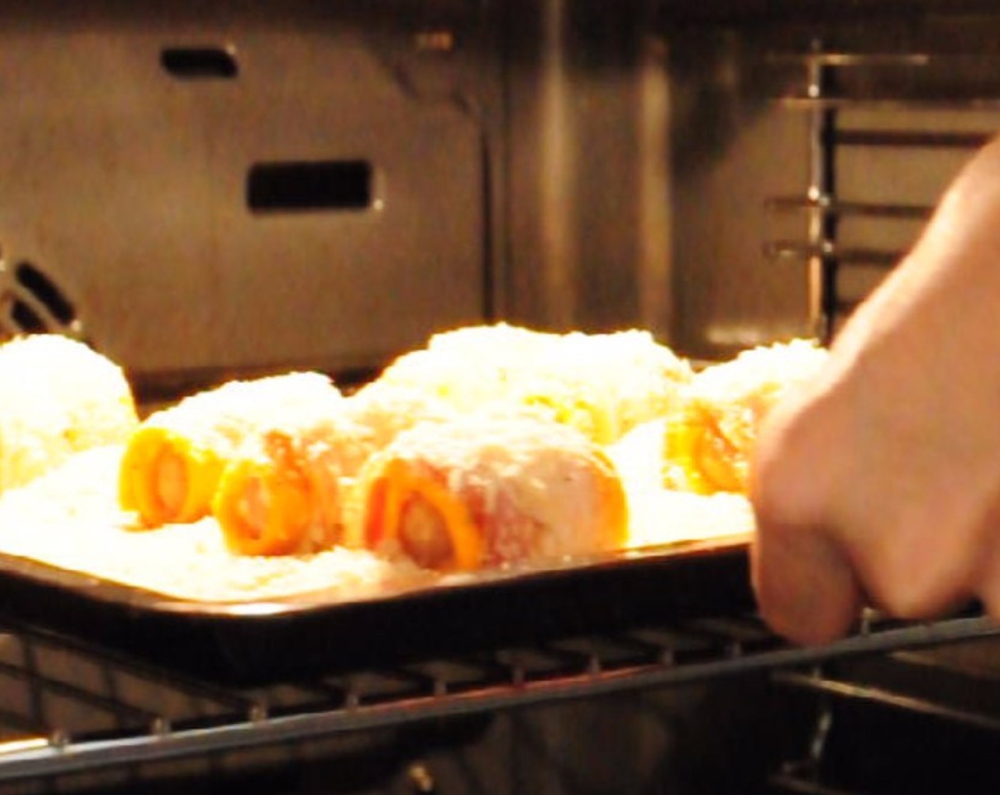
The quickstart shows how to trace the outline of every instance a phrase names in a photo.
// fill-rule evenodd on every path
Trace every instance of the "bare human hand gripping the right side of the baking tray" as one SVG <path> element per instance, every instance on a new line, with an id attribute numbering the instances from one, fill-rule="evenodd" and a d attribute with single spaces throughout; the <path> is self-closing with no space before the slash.
<path id="1" fill-rule="evenodd" d="M 1000 617 L 1000 145 L 768 417 L 751 467 L 764 618 L 802 643 L 860 608 Z"/>

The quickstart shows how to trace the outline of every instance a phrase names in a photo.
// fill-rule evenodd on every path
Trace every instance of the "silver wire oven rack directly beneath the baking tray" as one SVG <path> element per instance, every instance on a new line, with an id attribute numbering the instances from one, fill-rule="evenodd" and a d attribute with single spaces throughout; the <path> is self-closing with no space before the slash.
<path id="1" fill-rule="evenodd" d="M 1000 628 L 976 613 L 930 623 L 871 616 L 843 640 L 800 648 L 745 615 L 250 689 L 151 668 L 31 626 L 4 623 L 0 632 L 2 791 L 11 782 L 207 762 L 716 677 L 814 672 L 833 660 L 988 638 Z"/>

